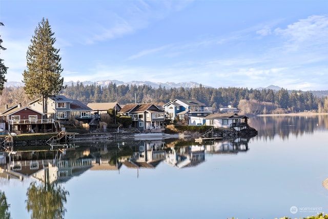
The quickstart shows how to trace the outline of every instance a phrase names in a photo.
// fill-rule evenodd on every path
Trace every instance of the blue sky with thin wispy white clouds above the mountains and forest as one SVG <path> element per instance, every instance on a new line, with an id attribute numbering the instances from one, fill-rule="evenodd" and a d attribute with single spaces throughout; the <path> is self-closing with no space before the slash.
<path id="1" fill-rule="evenodd" d="M 49 20 L 64 81 L 328 90 L 328 1 L 0 0 L 8 81 Z"/>

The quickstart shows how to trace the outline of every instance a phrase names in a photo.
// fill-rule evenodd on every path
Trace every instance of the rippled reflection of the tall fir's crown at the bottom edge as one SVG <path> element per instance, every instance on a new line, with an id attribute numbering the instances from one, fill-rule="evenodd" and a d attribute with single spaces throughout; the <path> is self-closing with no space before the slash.
<path id="1" fill-rule="evenodd" d="M 59 184 L 36 185 L 30 184 L 27 189 L 26 208 L 32 211 L 31 218 L 38 219 L 58 219 L 64 218 L 67 211 L 64 203 L 67 202 L 66 195 L 69 192 Z"/>

